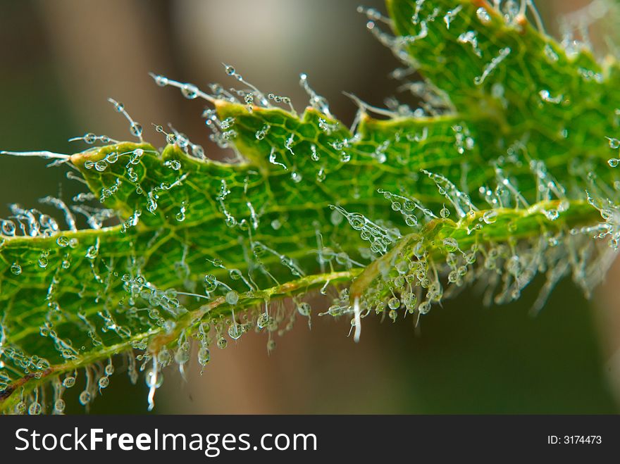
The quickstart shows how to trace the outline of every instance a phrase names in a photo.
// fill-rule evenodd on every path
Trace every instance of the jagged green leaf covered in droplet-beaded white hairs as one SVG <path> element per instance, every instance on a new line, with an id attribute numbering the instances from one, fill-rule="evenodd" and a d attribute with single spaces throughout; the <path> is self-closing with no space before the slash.
<path id="1" fill-rule="evenodd" d="M 167 145 L 156 149 L 113 100 L 139 142 L 86 134 L 102 146 L 9 153 L 67 165 L 89 192 L 72 205 L 42 199 L 67 230 L 17 205 L 1 221 L 4 412 L 62 413 L 78 370 L 87 405 L 119 354 L 133 382 L 145 371 L 152 406 L 161 370 L 183 370 L 192 339 L 204 366 L 213 344 L 256 330 L 271 349 L 274 332 L 313 313 L 344 316 L 358 339 L 368 315 L 420 318 L 471 284 L 504 303 L 544 274 L 534 311 L 566 275 L 590 294 L 620 239 L 618 62 L 570 37 L 555 42 L 530 0 L 387 9 L 390 18 L 361 11 L 402 61 L 395 76 L 419 97 L 415 110 L 352 97 L 349 128 L 306 75 L 299 115 L 226 66 L 237 92 L 153 77 L 209 104 L 203 117 L 211 139 L 233 149 L 230 163 L 161 126 Z M 409 81 L 416 71 L 422 80 Z M 91 228 L 77 230 L 74 213 Z M 313 289 L 335 295 L 329 308 L 304 301 Z M 40 399 L 46 384 L 51 406 Z"/>

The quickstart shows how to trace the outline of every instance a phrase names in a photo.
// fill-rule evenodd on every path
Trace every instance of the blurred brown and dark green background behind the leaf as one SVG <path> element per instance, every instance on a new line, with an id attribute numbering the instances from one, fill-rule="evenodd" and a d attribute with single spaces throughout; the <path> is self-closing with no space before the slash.
<path id="1" fill-rule="evenodd" d="M 547 29 L 583 1 L 538 2 Z M 299 73 L 350 124 L 356 107 L 342 91 L 369 104 L 397 94 L 388 74 L 397 65 L 356 13 L 360 0 L 0 0 L 0 148 L 81 151 L 69 137 L 85 132 L 129 139 L 128 124 L 106 102 L 125 104 L 163 144 L 151 123 L 171 123 L 211 158 L 199 101 L 156 87 L 149 71 L 206 87 L 227 82 L 235 65 L 263 92 L 307 98 Z M 378 0 L 364 6 L 385 11 Z M 600 37 L 595 41 L 602 42 Z M 408 101 L 407 96 L 402 96 Z M 410 101 L 410 100 L 409 100 Z M 39 207 L 46 195 L 82 192 L 66 169 L 46 161 L 0 157 L 0 217 L 8 203 Z M 609 282 L 620 280 L 620 265 Z M 543 282 L 521 300 L 484 308 L 465 293 L 421 320 L 364 320 L 359 344 L 347 320 L 298 320 L 267 353 L 266 336 L 247 334 L 209 366 L 169 368 L 154 413 L 618 413 L 620 294 L 613 284 L 587 302 L 562 282 L 545 309 L 528 315 Z M 313 306 L 319 303 L 315 303 Z M 326 304 L 326 301 L 323 301 Z M 195 358 L 195 356 L 194 356 Z M 117 374 L 92 413 L 146 413 L 146 386 Z M 82 413 L 66 398 L 68 412 Z"/>

